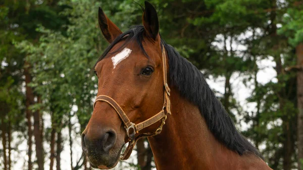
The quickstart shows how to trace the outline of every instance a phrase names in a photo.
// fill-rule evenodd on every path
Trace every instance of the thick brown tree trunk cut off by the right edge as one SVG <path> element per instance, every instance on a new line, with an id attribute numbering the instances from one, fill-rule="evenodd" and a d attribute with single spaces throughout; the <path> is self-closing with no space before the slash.
<path id="1" fill-rule="evenodd" d="M 303 43 L 296 47 L 297 65 L 297 146 L 298 146 L 298 170 L 303 170 Z"/>

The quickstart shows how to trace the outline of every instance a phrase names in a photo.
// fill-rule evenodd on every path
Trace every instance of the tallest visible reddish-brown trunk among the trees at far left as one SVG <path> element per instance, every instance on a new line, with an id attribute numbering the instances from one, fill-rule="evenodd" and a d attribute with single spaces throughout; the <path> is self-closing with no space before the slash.
<path id="1" fill-rule="evenodd" d="M 29 87 L 29 83 L 31 82 L 30 74 L 29 74 L 29 65 L 27 62 L 24 64 L 24 76 L 25 76 L 25 88 L 26 88 L 26 119 L 27 119 L 27 135 L 28 135 L 28 170 L 32 170 L 32 161 L 31 161 L 31 155 L 32 155 L 32 122 L 31 122 L 31 110 L 29 109 L 29 106 L 33 104 L 34 102 L 34 96 L 32 93 L 32 89 Z"/>

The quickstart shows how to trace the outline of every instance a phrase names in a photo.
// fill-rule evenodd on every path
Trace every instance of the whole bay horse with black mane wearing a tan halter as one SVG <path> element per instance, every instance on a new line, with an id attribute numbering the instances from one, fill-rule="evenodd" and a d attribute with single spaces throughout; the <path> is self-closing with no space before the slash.
<path id="1" fill-rule="evenodd" d="M 115 167 L 147 136 L 158 170 L 271 169 L 236 130 L 203 74 L 161 38 L 156 9 L 144 4 L 143 26 L 124 33 L 99 8 L 110 45 L 94 67 L 97 97 L 82 133 L 90 165 Z"/>

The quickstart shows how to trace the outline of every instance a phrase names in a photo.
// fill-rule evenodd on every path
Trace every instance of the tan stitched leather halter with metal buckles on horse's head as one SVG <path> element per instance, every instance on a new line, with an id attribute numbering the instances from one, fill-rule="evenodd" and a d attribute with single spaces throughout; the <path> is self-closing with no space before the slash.
<path id="1" fill-rule="evenodd" d="M 104 101 L 104 102 L 107 102 L 108 104 L 110 104 L 116 110 L 117 114 L 119 115 L 120 119 L 122 120 L 122 122 L 124 124 L 124 128 L 126 130 L 127 136 L 129 137 L 129 140 L 128 140 L 128 146 L 127 146 L 126 150 L 120 157 L 121 160 L 126 160 L 129 158 L 134 146 L 136 145 L 136 142 L 140 138 L 159 135 L 161 133 L 162 127 L 165 124 L 165 121 L 167 119 L 167 114 L 171 115 L 171 111 L 170 111 L 171 104 L 170 104 L 170 99 L 169 99 L 170 88 L 168 87 L 168 84 L 167 84 L 166 54 L 165 54 L 165 48 L 164 48 L 163 44 L 162 44 L 162 67 L 163 67 L 164 103 L 163 103 L 162 110 L 160 112 L 158 112 L 158 114 L 156 114 L 155 116 L 153 116 L 141 123 L 134 124 L 134 123 L 130 122 L 127 115 L 125 114 L 123 109 L 120 107 L 120 105 L 111 97 L 106 96 L 106 95 L 99 95 L 99 96 L 97 96 L 97 98 L 95 99 L 95 101 L 93 103 L 93 107 L 95 106 L 97 101 Z M 162 122 L 161 122 L 159 128 L 155 132 L 139 134 L 140 130 L 142 130 L 150 125 L 153 125 L 153 124 L 159 122 L 160 120 L 162 120 Z M 132 131 L 130 131 L 130 130 L 132 130 Z M 136 134 L 138 134 L 138 135 L 136 136 Z"/>

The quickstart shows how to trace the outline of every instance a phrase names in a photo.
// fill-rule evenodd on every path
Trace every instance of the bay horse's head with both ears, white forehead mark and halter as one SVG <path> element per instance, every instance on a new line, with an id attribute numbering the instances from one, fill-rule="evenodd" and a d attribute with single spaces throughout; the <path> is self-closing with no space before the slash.
<path id="1" fill-rule="evenodd" d="M 116 166 L 125 143 L 129 157 L 137 139 L 161 132 L 169 112 L 166 55 L 155 8 L 145 2 L 142 36 L 122 31 L 99 8 L 99 27 L 110 43 L 95 65 L 97 98 L 82 133 L 92 167 Z M 140 41 L 141 43 L 138 43 Z M 141 45 L 140 45 L 141 44 Z M 164 95 L 163 95 L 164 94 Z"/>

